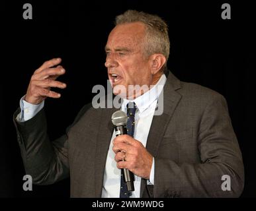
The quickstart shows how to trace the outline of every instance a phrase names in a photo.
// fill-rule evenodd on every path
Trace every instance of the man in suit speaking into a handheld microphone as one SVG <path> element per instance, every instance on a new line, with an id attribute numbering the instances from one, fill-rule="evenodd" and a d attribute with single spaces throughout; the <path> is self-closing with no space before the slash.
<path id="1" fill-rule="evenodd" d="M 50 142 L 44 100 L 60 98 L 50 88 L 65 88 L 56 80 L 65 70 L 58 58 L 34 72 L 21 109 L 15 113 L 15 125 L 26 173 L 35 184 L 70 176 L 73 197 L 241 194 L 243 162 L 226 100 L 213 90 L 181 82 L 167 71 L 169 45 L 167 25 L 158 16 L 126 11 L 116 17 L 105 47 L 105 66 L 114 94 L 123 98 L 118 109 L 134 118 L 130 135 L 115 137 L 113 133 L 111 115 L 118 109 L 95 109 L 89 104 L 64 136 Z M 129 85 L 150 89 L 128 92 Z M 163 94 L 161 115 L 154 115 L 159 107 L 156 88 Z M 127 107 L 131 103 L 133 114 Z M 135 175 L 132 193 L 126 190 L 122 168 Z M 223 176 L 230 178 L 228 190 L 223 188 Z"/>

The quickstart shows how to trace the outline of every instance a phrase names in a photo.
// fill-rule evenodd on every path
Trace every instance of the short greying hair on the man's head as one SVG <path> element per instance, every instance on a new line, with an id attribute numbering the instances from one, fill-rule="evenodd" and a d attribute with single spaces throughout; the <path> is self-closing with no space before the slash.
<path id="1" fill-rule="evenodd" d="M 168 26 L 166 22 L 157 15 L 144 12 L 128 10 L 122 15 L 116 16 L 115 25 L 131 22 L 142 22 L 146 26 L 146 42 L 144 43 L 144 53 L 146 56 L 153 53 L 161 53 L 165 56 L 166 62 L 162 67 L 167 73 L 167 60 L 170 52 L 170 41 L 168 36 Z"/>

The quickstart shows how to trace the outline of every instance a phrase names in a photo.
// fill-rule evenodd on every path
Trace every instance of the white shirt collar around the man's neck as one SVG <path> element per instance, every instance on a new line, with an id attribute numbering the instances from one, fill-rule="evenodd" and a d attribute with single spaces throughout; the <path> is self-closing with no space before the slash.
<path id="1" fill-rule="evenodd" d="M 126 105 L 128 104 L 128 102 L 135 102 L 140 112 L 145 111 L 155 100 L 158 99 L 161 91 L 163 90 L 165 82 L 166 76 L 163 74 L 151 89 L 149 89 L 141 96 L 138 96 L 138 98 L 134 100 L 127 100 L 126 98 L 124 98 L 124 101 L 122 103 L 122 110 L 126 111 Z"/>

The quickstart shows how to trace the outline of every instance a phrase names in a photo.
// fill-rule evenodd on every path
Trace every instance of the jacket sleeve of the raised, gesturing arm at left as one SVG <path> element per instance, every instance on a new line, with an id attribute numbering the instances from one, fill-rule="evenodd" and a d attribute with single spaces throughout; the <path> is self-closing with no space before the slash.
<path id="1" fill-rule="evenodd" d="M 66 133 L 54 141 L 48 138 L 44 109 L 24 122 L 17 121 L 16 117 L 21 111 L 17 109 L 13 121 L 21 148 L 21 157 L 26 174 L 32 176 L 34 184 L 49 185 L 69 177 L 67 134 L 90 106 L 91 104 L 85 105 L 73 124 L 67 127 Z"/>

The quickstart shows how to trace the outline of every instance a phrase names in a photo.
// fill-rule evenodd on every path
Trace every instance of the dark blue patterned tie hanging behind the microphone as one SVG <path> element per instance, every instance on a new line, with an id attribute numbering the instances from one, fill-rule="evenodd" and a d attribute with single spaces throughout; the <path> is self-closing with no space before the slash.
<path id="1" fill-rule="evenodd" d="M 128 121 L 126 123 L 126 127 L 127 127 L 127 133 L 129 136 L 134 137 L 134 116 L 135 116 L 135 112 L 136 112 L 136 104 L 133 102 L 129 102 L 126 105 L 127 108 L 127 117 L 128 117 Z M 124 176 L 122 175 L 122 171 L 121 171 L 121 186 L 120 186 L 120 198 L 129 198 L 129 193 L 127 190 L 127 185 L 124 182 Z"/>

